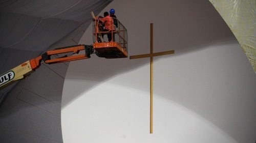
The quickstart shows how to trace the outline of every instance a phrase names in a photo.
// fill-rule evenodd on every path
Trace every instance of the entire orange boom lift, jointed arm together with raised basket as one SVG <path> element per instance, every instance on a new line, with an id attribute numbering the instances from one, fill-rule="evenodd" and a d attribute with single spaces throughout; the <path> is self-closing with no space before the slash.
<path id="1" fill-rule="evenodd" d="M 94 17 L 93 12 L 92 16 Z M 26 76 L 29 76 L 32 72 L 40 67 L 41 63 L 56 64 L 75 60 L 89 59 L 91 58 L 91 54 L 93 53 L 96 53 L 97 56 L 106 59 L 127 58 L 127 30 L 118 20 L 117 23 L 118 25 L 116 26 L 115 30 L 101 32 L 98 28 L 99 20 L 94 20 L 93 45 L 74 45 L 46 51 L 45 53 L 39 55 L 37 58 L 31 59 L 0 75 L 0 90 L 17 80 L 21 80 L 24 79 Z M 112 41 L 104 42 L 101 34 L 110 33 L 112 36 Z M 98 38 L 101 39 L 101 42 L 98 42 Z M 113 39 L 115 39 L 115 41 Z M 85 50 L 85 54 L 78 54 L 81 50 Z M 60 58 L 52 59 L 52 55 L 63 53 L 68 54 L 61 56 Z"/>

